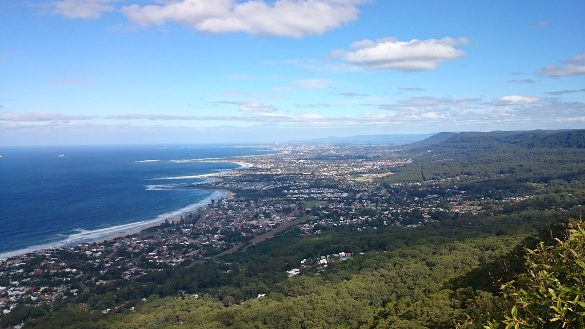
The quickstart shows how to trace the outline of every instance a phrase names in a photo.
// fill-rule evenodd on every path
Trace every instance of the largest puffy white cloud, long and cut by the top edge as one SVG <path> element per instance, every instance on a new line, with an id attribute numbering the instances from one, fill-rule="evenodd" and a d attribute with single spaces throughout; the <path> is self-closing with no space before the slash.
<path id="1" fill-rule="evenodd" d="M 321 35 L 357 19 L 363 0 L 182 0 L 122 8 L 141 26 L 167 22 L 201 32 L 303 37 Z"/>

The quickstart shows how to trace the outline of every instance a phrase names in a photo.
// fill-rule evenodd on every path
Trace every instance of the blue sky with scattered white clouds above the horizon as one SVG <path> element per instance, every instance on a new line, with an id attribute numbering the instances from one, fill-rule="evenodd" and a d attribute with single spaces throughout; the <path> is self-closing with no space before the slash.
<path id="1" fill-rule="evenodd" d="M 0 145 L 585 128 L 585 1 L 0 0 Z"/>

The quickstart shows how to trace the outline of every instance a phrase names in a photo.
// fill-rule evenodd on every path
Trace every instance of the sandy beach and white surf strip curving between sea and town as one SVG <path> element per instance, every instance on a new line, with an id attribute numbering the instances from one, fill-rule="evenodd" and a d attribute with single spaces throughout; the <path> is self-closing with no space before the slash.
<path id="1" fill-rule="evenodd" d="M 280 154 L 280 153 L 278 153 L 278 154 Z M 222 180 L 221 178 L 216 177 L 216 176 L 221 176 L 222 174 L 232 172 L 233 170 L 249 169 L 249 168 L 254 166 L 252 163 L 233 161 L 233 160 L 227 160 L 227 159 L 226 160 L 216 159 L 215 161 L 212 159 L 209 159 L 209 160 L 207 160 L 207 159 L 206 160 L 203 160 L 203 159 L 202 160 L 195 160 L 194 159 L 194 161 L 197 161 L 197 162 L 230 162 L 230 163 L 236 163 L 237 165 L 240 166 L 239 168 L 223 170 L 221 172 L 191 176 L 191 177 L 198 177 L 198 178 L 204 178 L 204 177 L 209 178 L 212 180 L 211 183 Z M 207 190 L 207 189 L 201 189 L 201 190 Z M 67 248 L 69 246 L 74 246 L 74 245 L 79 245 L 79 244 L 93 244 L 94 242 L 96 244 L 102 244 L 104 241 L 111 241 L 111 240 L 116 239 L 116 238 L 124 238 L 127 235 L 138 234 L 138 233 L 142 232 L 144 229 L 156 227 L 156 226 L 160 225 L 160 223 L 164 222 L 165 220 L 168 220 L 168 221 L 180 220 L 181 215 L 197 211 L 199 208 L 205 207 L 205 205 L 208 205 L 209 203 L 211 203 L 211 200 L 219 200 L 221 198 L 232 198 L 235 196 L 235 193 L 233 193 L 232 191 L 229 191 L 229 190 L 225 190 L 225 189 L 209 190 L 209 191 L 214 191 L 211 194 L 211 196 L 205 198 L 204 200 L 199 201 L 198 203 L 187 205 L 187 207 L 183 207 L 179 210 L 173 211 L 170 214 L 161 214 L 161 215 L 157 216 L 156 218 L 152 218 L 150 220 L 143 220 L 143 221 L 131 222 L 131 223 L 127 223 L 127 224 L 116 225 L 116 227 L 119 228 L 120 231 L 116 232 L 114 234 L 99 235 L 99 232 L 105 231 L 108 229 L 116 230 L 116 227 L 95 229 L 93 231 L 81 230 L 79 233 L 70 235 L 69 237 L 67 237 L 63 241 L 49 242 L 47 244 L 42 244 L 42 245 L 32 245 L 32 246 L 29 246 L 29 247 L 26 247 L 23 249 L 2 252 L 2 253 L 0 253 L 0 260 L 6 260 L 6 259 L 13 258 L 13 257 L 24 256 L 24 255 L 27 255 L 30 253 L 35 253 L 35 252 L 42 252 L 42 251 L 50 250 L 53 248 Z M 216 194 L 216 193 L 222 194 L 222 195 L 221 196 L 220 195 L 214 196 L 214 194 Z M 141 224 L 141 223 L 143 223 L 143 224 Z M 99 238 L 98 237 L 84 238 L 83 235 L 87 235 L 88 232 L 92 233 L 93 235 L 98 235 Z"/>

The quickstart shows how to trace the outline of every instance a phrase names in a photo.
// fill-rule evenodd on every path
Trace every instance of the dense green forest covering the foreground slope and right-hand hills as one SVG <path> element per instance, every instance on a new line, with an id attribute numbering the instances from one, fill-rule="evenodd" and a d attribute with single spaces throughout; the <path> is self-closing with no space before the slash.
<path id="1" fill-rule="evenodd" d="M 464 192 L 466 202 L 491 207 L 436 210 L 415 228 L 292 228 L 221 258 L 101 286 L 80 303 L 19 307 L 0 325 L 582 328 L 584 147 L 584 130 L 443 134 L 399 150 L 412 162 L 380 177 L 380 193 Z M 285 272 L 339 252 L 353 257 L 326 271 Z M 120 304 L 116 313 L 95 311 Z"/>

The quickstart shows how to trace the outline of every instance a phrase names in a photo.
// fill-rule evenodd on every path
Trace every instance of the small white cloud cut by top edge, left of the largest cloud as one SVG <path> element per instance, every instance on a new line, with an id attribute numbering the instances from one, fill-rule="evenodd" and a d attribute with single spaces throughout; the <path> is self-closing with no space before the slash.
<path id="1" fill-rule="evenodd" d="M 104 12 L 113 11 L 117 0 L 63 0 L 54 2 L 53 13 L 67 18 L 97 19 Z"/>

